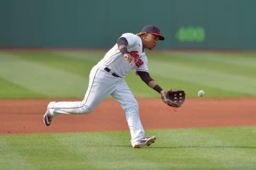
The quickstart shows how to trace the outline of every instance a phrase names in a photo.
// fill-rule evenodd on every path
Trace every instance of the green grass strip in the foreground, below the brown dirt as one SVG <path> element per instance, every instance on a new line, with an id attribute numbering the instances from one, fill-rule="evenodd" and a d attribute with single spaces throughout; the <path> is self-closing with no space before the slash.
<path id="1" fill-rule="evenodd" d="M 149 130 L 156 142 L 130 146 L 130 132 L 0 135 L 1 169 L 255 169 L 256 128 Z"/>

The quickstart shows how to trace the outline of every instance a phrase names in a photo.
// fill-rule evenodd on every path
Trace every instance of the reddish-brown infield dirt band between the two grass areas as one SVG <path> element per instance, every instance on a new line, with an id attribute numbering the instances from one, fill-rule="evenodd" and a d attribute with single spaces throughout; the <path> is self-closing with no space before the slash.
<path id="1" fill-rule="evenodd" d="M 114 99 L 106 99 L 91 114 L 54 117 L 45 126 L 50 101 L 81 99 L 0 99 L 0 134 L 60 133 L 129 130 L 125 114 Z M 256 98 L 188 98 L 174 110 L 161 99 L 137 99 L 145 130 L 219 126 L 255 126 Z"/>

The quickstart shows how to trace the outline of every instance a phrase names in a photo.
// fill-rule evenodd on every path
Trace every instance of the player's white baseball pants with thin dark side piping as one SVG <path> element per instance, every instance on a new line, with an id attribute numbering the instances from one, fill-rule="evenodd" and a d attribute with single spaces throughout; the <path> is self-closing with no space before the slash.
<path id="1" fill-rule="evenodd" d="M 137 100 L 124 79 L 114 77 L 102 68 L 96 65 L 91 70 L 89 87 L 83 101 L 50 103 L 50 113 L 52 116 L 57 116 L 58 114 L 88 114 L 111 95 L 121 104 L 124 110 L 131 132 L 131 143 L 133 144 L 145 136 L 145 131 L 140 121 Z"/>

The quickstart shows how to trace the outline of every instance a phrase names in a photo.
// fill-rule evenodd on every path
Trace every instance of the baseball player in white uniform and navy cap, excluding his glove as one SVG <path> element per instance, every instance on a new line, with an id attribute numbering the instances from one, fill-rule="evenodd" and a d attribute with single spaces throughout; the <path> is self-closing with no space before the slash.
<path id="1" fill-rule="evenodd" d="M 150 146 L 156 140 L 155 136 L 145 137 L 145 131 L 140 121 L 137 100 L 127 86 L 124 78 L 131 70 L 136 71 L 142 81 L 162 96 L 163 90 L 150 77 L 148 59 L 145 49 L 154 49 L 158 40 L 164 40 L 160 29 L 155 25 L 147 25 L 140 33 L 124 33 L 101 61 L 93 66 L 89 76 L 89 87 L 82 101 L 52 101 L 44 114 L 44 123 L 49 126 L 53 117 L 58 114 L 88 114 L 91 113 L 109 95 L 121 104 L 126 121 L 131 132 L 131 145 L 134 148 Z"/>

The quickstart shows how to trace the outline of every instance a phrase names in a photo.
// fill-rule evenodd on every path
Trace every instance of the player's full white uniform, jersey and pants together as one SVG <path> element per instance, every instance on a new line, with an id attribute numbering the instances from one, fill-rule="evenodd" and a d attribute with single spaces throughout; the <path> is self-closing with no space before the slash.
<path id="1" fill-rule="evenodd" d="M 111 95 L 121 104 L 125 112 L 133 144 L 145 137 L 145 132 L 140 121 L 138 103 L 123 78 L 134 69 L 148 72 L 148 60 L 145 52 L 142 51 L 142 41 L 139 36 L 133 33 L 124 33 L 121 37 L 128 42 L 127 50 L 134 58 L 133 64 L 130 65 L 125 60 L 115 44 L 102 60 L 93 66 L 89 77 L 89 87 L 83 101 L 52 102 L 49 104 L 49 111 L 52 116 L 91 113 L 95 107 Z"/>

